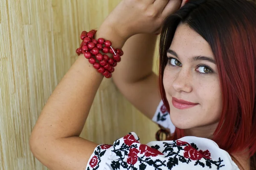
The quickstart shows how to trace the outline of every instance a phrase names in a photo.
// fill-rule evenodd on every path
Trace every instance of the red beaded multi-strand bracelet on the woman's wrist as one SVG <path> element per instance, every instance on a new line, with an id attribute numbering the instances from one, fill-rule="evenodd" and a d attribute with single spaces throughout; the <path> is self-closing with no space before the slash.
<path id="1" fill-rule="evenodd" d="M 84 57 L 93 64 L 93 67 L 98 70 L 106 78 L 111 78 L 114 67 L 117 62 L 121 61 L 121 56 L 123 55 L 122 49 L 112 48 L 111 41 L 99 38 L 98 40 L 93 39 L 96 34 L 96 30 L 91 30 L 89 32 L 82 31 L 80 38 L 82 40 L 80 48 L 76 49 L 78 55 L 84 54 Z M 104 45 L 104 46 L 103 46 Z M 102 54 L 100 53 L 102 51 Z M 107 53 L 113 54 L 113 58 L 109 58 Z M 97 60 L 99 62 L 97 62 Z"/>

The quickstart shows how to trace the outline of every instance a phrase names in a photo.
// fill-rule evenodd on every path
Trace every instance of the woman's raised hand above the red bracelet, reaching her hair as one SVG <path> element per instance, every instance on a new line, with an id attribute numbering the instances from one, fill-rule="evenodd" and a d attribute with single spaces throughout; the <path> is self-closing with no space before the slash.
<path id="1" fill-rule="evenodd" d="M 157 33 L 182 0 L 122 0 L 102 25 L 111 26 L 124 39 L 139 33 Z"/>

